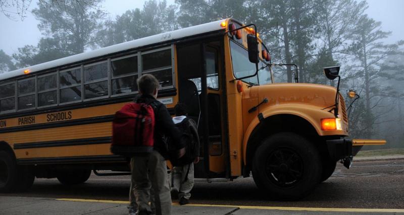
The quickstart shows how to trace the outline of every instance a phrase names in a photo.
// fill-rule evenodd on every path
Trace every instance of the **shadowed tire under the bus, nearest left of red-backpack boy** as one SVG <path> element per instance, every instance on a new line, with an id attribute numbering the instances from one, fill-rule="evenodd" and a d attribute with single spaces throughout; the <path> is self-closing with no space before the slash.
<path id="1" fill-rule="evenodd" d="M 90 175 L 89 169 L 61 170 L 58 172 L 58 180 L 64 185 L 75 185 L 86 182 Z"/>

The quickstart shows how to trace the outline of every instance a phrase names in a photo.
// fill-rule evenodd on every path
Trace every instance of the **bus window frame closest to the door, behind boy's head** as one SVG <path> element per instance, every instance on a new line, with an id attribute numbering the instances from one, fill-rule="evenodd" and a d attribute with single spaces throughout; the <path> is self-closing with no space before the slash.
<path id="1" fill-rule="evenodd" d="M 143 54 L 149 54 L 149 53 L 163 51 L 163 50 L 167 50 L 167 49 L 171 49 L 171 66 L 164 66 L 164 67 L 158 67 L 158 68 L 153 68 L 153 69 L 147 69 L 145 72 L 143 72 L 143 61 L 142 61 L 143 60 L 143 57 L 142 57 Z M 147 50 L 147 51 L 139 51 L 138 54 L 140 55 L 140 61 L 138 60 L 138 63 L 139 63 L 138 70 L 140 71 L 139 77 L 144 75 L 144 74 L 149 74 L 149 73 L 153 73 L 155 71 L 165 70 L 165 69 L 168 69 L 169 67 L 171 67 L 172 85 L 171 86 L 166 86 L 166 87 L 161 87 L 161 88 L 159 88 L 159 90 L 166 90 L 166 89 L 175 88 L 176 82 L 175 82 L 174 44 L 171 44 L 170 46 L 158 48 L 158 49 L 151 49 L 151 50 Z M 122 95 L 122 94 L 119 94 L 119 95 Z"/>

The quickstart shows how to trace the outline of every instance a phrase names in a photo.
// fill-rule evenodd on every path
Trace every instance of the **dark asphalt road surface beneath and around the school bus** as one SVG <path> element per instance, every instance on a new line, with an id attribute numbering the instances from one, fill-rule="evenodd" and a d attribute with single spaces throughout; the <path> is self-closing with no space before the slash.
<path id="1" fill-rule="evenodd" d="M 127 201 L 129 183 L 129 176 L 91 176 L 86 183 L 71 187 L 56 179 L 37 179 L 27 192 L 0 196 Z M 196 182 L 192 194 L 195 204 L 404 209 L 404 159 L 357 162 L 350 170 L 338 164 L 327 181 L 299 201 L 273 201 L 259 192 L 252 178 Z"/>

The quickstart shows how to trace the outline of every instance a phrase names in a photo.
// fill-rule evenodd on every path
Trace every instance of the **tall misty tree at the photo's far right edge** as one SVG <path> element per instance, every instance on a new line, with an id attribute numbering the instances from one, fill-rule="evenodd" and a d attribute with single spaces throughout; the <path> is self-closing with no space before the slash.
<path id="1" fill-rule="evenodd" d="M 357 135 L 371 136 L 374 125 L 383 123 L 384 115 L 392 110 L 388 98 L 399 97 L 390 86 L 382 85 L 381 80 L 393 79 L 391 73 L 387 73 L 386 58 L 390 55 L 399 54 L 398 48 L 403 45 L 402 41 L 396 44 L 385 45 L 379 42 L 391 32 L 380 29 L 381 23 L 364 15 L 360 18 L 358 26 L 351 36 L 351 44 L 346 49 L 348 54 L 354 56 L 354 63 L 350 70 L 350 79 L 357 79 L 357 89 L 363 92 L 363 108 L 358 112 Z M 376 109 L 382 111 L 376 111 Z"/>

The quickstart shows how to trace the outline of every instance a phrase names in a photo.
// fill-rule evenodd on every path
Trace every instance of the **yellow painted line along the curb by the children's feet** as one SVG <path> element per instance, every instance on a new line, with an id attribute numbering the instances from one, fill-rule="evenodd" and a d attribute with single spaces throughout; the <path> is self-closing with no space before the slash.
<path id="1" fill-rule="evenodd" d="M 120 203 L 128 204 L 129 201 L 113 200 L 95 200 L 95 199 L 77 199 L 77 198 L 58 198 L 61 201 L 82 201 L 82 202 L 101 202 L 101 203 Z M 173 203 L 173 205 L 179 205 Z M 274 206 L 245 206 L 245 205 L 224 205 L 224 204 L 186 204 L 183 206 L 201 206 L 201 207 L 238 207 L 240 209 L 265 209 L 265 210 L 307 210 L 307 211 L 331 211 L 331 212 L 404 212 L 404 209 L 382 209 L 382 208 L 328 208 L 328 207 L 274 207 Z"/>

